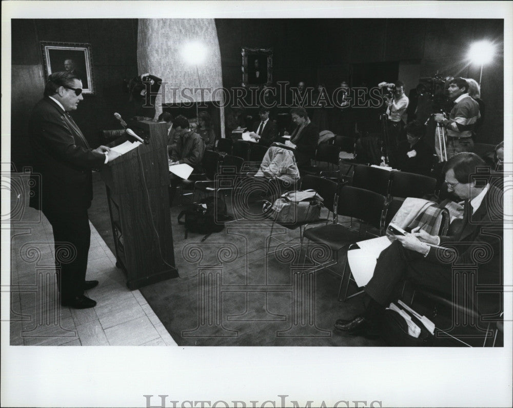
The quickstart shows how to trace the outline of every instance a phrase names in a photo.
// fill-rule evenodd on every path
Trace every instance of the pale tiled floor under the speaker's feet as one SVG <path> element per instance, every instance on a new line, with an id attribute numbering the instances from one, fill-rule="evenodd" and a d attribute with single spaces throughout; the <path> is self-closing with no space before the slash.
<path id="1" fill-rule="evenodd" d="M 11 209 L 19 197 L 11 199 Z M 13 217 L 14 218 L 14 217 Z M 11 345 L 176 345 L 138 290 L 126 287 L 115 256 L 91 224 L 87 295 L 92 309 L 61 307 L 57 299 L 52 228 L 24 206 L 11 223 Z M 3 288 L 3 292 L 5 288 Z"/>

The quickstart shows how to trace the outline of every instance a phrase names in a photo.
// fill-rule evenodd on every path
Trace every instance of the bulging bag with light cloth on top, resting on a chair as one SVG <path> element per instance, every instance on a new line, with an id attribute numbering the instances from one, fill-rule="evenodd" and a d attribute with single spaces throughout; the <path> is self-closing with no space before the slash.
<path id="1" fill-rule="evenodd" d="M 282 224 L 317 221 L 323 201 L 315 190 L 289 191 L 274 201 L 269 215 L 274 222 Z"/>

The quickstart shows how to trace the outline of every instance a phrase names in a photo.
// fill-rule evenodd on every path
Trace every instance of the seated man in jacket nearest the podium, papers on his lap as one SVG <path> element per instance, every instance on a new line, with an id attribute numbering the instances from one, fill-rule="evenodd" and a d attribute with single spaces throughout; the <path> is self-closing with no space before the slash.
<path id="1" fill-rule="evenodd" d="M 201 172 L 201 160 L 205 151 L 205 144 L 201 136 L 190 130 L 189 120 L 179 115 L 173 120 L 175 144 L 172 146 L 169 155 L 169 166 L 187 164 L 193 168 L 192 173 Z M 183 178 L 169 174 L 169 205 L 172 205 L 176 186 L 183 181 Z"/>

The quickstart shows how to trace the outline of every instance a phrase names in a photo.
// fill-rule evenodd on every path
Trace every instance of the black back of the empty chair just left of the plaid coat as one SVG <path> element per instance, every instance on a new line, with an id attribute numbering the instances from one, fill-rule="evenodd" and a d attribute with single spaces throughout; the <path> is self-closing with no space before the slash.
<path id="1" fill-rule="evenodd" d="M 343 186 L 337 212 L 346 217 L 358 218 L 382 232 L 382 218 L 386 197 L 373 191 Z"/>

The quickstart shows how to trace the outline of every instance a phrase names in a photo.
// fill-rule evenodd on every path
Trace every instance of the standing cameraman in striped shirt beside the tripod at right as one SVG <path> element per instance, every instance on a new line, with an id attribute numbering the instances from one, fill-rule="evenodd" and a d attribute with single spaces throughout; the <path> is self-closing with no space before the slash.
<path id="1" fill-rule="evenodd" d="M 457 153 L 471 152 L 474 147 L 472 130 L 480 117 L 479 104 L 468 94 L 468 83 L 464 78 L 454 78 L 447 89 L 449 98 L 455 103 L 447 119 L 444 114 L 435 114 L 435 120 L 447 129 L 447 159 Z"/>

